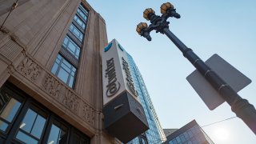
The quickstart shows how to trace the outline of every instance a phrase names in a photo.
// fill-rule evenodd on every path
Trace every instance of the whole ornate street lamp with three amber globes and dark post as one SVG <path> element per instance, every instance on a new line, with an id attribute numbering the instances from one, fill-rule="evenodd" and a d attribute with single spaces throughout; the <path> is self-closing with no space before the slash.
<path id="1" fill-rule="evenodd" d="M 204 78 L 214 87 L 215 90 L 222 96 L 222 98 L 231 106 L 231 110 L 246 123 L 250 130 L 256 134 L 256 110 L 246 99 L 241 98 L 222 78 L 211 70 L 194 54 L 193 50 L 188 48 L 182 41 L 180 41 L 170 30 L 168 18 L 180 18 L 180 14 L 176 12 L 174 6 L 170 2 L 163 3 L 161 6 L 161 16 L 155 14 L 154 10 L 148 8 L 144 10 L 143 17 L 150 21 L 150 26 L 146 22 L 141 22 L 137 25 L 136 31 L 148 41 L 151 41 L 150 32 L 156 30 L 161 34 L 166 34 L 174 45 L 182 51 L 182 54 L 187 58 L 194 67 L 203 75 Z"/>

